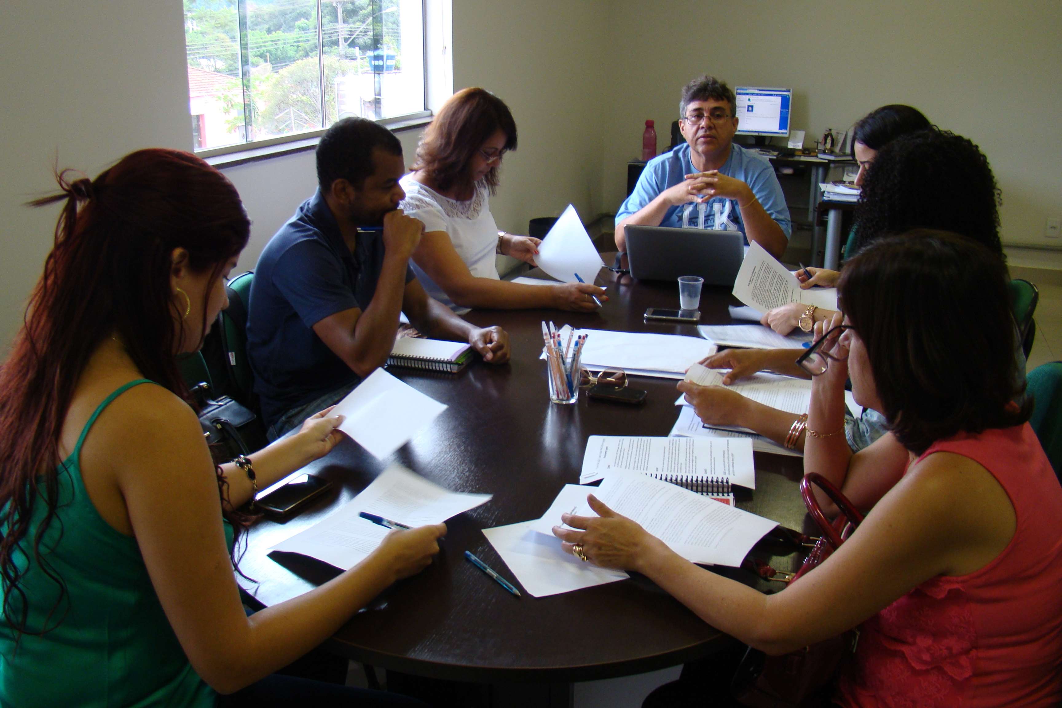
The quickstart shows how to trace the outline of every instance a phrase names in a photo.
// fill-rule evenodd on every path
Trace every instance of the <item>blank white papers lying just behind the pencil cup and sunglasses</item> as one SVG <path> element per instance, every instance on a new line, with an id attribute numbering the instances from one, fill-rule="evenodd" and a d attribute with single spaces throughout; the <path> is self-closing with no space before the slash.
<path id="1" fill-rule="evenodd" d="M 716 352 L 716 345 L 700 336 L 604 329 L 576 330 L 579 334 L 587 335 L 581 363 L 592 370 L 619 367 L 635 376 L 681 379 L 690 364 Z"/>

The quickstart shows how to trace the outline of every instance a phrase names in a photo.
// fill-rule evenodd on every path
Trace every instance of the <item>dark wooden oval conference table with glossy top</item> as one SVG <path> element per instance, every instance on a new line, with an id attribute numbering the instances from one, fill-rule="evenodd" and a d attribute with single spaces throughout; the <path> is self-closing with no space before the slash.
<path id="1" fill-rule="evenodd" d="M 268 549 L 325 518 L 397 461 L 449 489 L 494 498 L 447 521 L 435 562 L 352 619 L 329 650 L 430 678 L 564 685 L 680 664 L 732 641 L 645 577 L 516 598 L 463 557 L 469 550 L 515 580 L 481 530 L 541 517 L 564 484 L 578 483 L 588 436 L 667 435 L 678 417 L 676 381 L 668 379 L 632 377 L 630 385 L 648 391 L 640 407 L 584 396 L 575 405 L 549 402 L 546 363 L 538 359 L 544 318 L 558 327 L 697 335 L 692 325 L 643 321 L 648 307 L 678 307 L 676 283 L 635 281 L 605 269 L 597 282 L 607 287 L 611 299 L 595 313 L 483 310 L 466 315 L 477 325 L 506 328 L 512 345 L 506 365 L 477 361 L 456 376 L 389 369 L 448 410 L 391 459 L 376 460 L 345 439 L 306 468 L 331 480 L 333 490 L 286 523 L 261 520 L 251 529 L 240 568 L 257 583 L 240 579 L 241 585 L 268 606 L 335 576 L 325 564 L 292 554 L 270 557 Z M 701 324 L 730 324 L 732 303 L 730 289 L 706 287 Z M 810 532 L 798 490 L 801 459 L 757 452 L 755 464 L 756 489 L 739 496 L 738 506 Z M 753 553 L 780 570 L 794 570 L 799 563 L 795 555 L 772 555 L 769 547 Z M 784 587 L 746 570 L 715 570 L 765 591 Z"/>

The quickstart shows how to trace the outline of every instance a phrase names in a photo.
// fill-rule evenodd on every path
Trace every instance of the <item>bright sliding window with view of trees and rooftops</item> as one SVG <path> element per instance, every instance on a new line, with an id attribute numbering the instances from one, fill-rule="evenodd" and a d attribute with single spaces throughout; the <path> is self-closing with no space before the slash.
<path id="1" fill-rule="evenodd" d="M 305 138 L 347 116 L 427 115 L 425 0 L 184 7 L 196 151 Z"/>

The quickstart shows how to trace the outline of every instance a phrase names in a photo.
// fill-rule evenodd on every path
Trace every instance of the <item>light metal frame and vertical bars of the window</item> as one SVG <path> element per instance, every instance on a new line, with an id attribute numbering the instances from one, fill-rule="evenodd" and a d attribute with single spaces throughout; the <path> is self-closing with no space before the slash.
<path id="1" fill-rule="evenodd" d="M 321 109 L 322 114 L 325 113 L 325 72 L 324 72 L 324 36 L 322 33 L 323 29 L 323 16 L 321 14 L 321 3 L 322 0 L 314 0 L 316 5 L 316 32 L 318 32 L 318 79 L 321 90 Z M 237 21 L 239 22 L 239 51 L 240 51 L 240 87 L 243 93 L 243 106 L 244 115 L 250 109 L 249 97 L 251 92 L 251 76 L 244 71 L 245 67 L 251 65 L 251 49 L 247 44 L 247 38 L 250 33 L 247 32 L 247 0 L 237 0 Z M 421 45 L 422 45 L 422 59 L 423 59 L 423 75 L 424 81 L 422 82 L 422 89 L 424 96 L 423 105 L 424 110 L 417 110 L 411 114 L 404 114 L 401 116 L 391 116 L 389 118 L 379 118 L 376 120 L 377 123 L 383 125 L 384 127 L 394 129 L 402 129 L 410 127 L 418 127 L 425 125 L 431 121 L 433 116 L 432 110 L 428 107 L 428 0 L 421 0 Z M 187 62 L 186 71 L 187 73 Z M 189 111 L 189 117 L 191 113 Z M 244 126 L 246 123 L 244 123 Z M 245 127 L 244 127 L 245 129 Z M 203 159 L 208 158 L 223 158 L 226 155 L 233 155 L 233 163 L 239 163 L 244 161 L 251 161 L 255 159 L 262 159 L 263 157 L 269 157 L 272 154 L 286 154 L 290 152 L 301 152 L 303 150 L 308 150 L 316 144 L 316 139 L 320 138 L 328 131 L 327 127 L 316 128 L 313 131 L 302 131 L 299 133 L 289 133 L 287 135 L 277 136 L 275 138 L 266 138 L 263 140 L 252 140 L 244 142 L 236 142 L 230 145 L 220 145 L 218 148 L 207 148 L 205 150 L 196 150 L 192 145 L 192 152 L 196 157 Z M 192 133 L 189 131 L 189 139 L 192 139 Z M 307 142 L 311 141 L 311 142 Z M 292 150 L 288 150 L 287 143 L 299 142 L 303 144 L 292 145 Z M 269 150 L 274 149 L 274 150 Z M 236 153 L 251 153 L 251 155 L 236 155 Z M 211 165 L 220 166 L 229 163 L 229 160 L 225 159 L 209 159 Z"/>

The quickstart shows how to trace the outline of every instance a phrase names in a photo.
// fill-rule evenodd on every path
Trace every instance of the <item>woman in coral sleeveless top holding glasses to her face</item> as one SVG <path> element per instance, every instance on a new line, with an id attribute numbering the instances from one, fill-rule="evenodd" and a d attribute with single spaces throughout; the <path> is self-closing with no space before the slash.
<path id="1" fill-rule="evenodd" d="M 1057 706 L 1062 487 L 1027 422 L 1006 266 L 954 234 L 904 235 L 850 261 L 839 291 L 843 325 L 804 361 L 819 374 L 805 466 L 870 511 L 822 565 L 761 594 L 684 560 L 593 497 L 598 516 L 564 515 L 575 530 L 553 533 L 566 551 L 647 575 L 768 654 L 858 627 L 837 705 Z M 849 377 L 856 400 L 888 419 L 898 469 L 844 443 Z M 713 689 L 700 678 L 684 671 L 666 705 L 704 705 Z"/>

